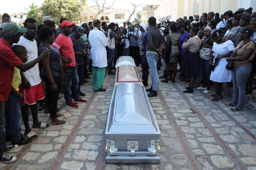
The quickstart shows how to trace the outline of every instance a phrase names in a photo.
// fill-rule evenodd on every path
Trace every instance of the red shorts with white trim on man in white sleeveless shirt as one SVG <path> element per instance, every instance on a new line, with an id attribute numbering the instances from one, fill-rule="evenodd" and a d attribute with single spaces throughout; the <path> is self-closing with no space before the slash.
<path id="1" fill-rule="evenodd" d="M 21 100 L 21 104 L 25 105 L 34 105 L 37 100 L 44 99 L 44 89 L 42 82 L 38 85 L 30 86 L 28 89 L 24 89 L 22 84 L 19 86 L 19 92 L 24 95 L 24 98 Z"/>

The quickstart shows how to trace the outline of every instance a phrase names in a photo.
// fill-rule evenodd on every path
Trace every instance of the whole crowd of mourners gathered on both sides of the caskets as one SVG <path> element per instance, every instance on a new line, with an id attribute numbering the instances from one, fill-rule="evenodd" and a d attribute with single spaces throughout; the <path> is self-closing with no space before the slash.
<path id="1" fill-rule="evenodd" d="M 211 93 L 213 84 L 213 101 L 223 98 L 222 83 L 226 83 L 233 86 L 233 99 L 226 105 L 240 111 L 246 93 L 255 88 L 256 14 L 252 8 L 184 16 L 159 24 L 150 17 L 148 25 L 126 21 L 120 27 L 98 19 L 75 25 L 60 18 L 59 28 L 49 16 L 42 21 L 37 25 L 34 18 L 27 18 L 21 28 L 7 13 L 2 15 L 0 162 L 14 162 L 17 158 L 5 152 L 38 138 L 30 129 L 29 108 L 34 129 L 50 126 L 38 121 L 38 110 L 50 113 L 52 125 L 66 123 L 58 119 L 62 116 L 57 114 L 59 92 L 64 93 L 66 107 L 78 108 L 87 102 L 80 97 L 86 96 L 80 86 L 92 79 L 94 92 L 106 91 L 105 72 L 115 74 L 112 70 L 119 56 L 132 56 L 142 69 L 144 86 L 151 73 L 148 97 L 157 96 L 159 78 L 163 83 L 188 82 L 184 93 L 193 93 L 194 88 Z M 159 76 L 161 67 L 164 74 Z"/>

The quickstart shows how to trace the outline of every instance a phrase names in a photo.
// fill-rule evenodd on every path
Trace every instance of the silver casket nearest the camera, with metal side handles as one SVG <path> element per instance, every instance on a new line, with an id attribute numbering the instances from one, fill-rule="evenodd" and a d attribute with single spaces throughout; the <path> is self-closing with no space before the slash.
<path id="1" fill-rule="evenodd" d="M 144 87 L 114 87 L 105 135 L 106 163 L 160 163 L 160 130 Z"/>

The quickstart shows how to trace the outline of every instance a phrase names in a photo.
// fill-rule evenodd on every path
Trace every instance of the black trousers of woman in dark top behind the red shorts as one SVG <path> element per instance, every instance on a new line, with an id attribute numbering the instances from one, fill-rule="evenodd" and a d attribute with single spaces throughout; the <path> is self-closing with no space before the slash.
<path id="1" fill-rule="evenodd" d="M 58 92 L 52 91 L 52 84 L 48 80 L 46 76 L 43 76 L 44 82 L 45 82 L 45 88 L 46 93 L 45 98 L 47 98 L 45 101 L 48 102 L 49 106 L 49 112 L 52 115 L 52 118 L 57 117 L 57 103 L 58 103 L 58 97 L 59 97 L 59 90 L 60 90 L 60 77 L 52 77 L 57 85 Z"/>

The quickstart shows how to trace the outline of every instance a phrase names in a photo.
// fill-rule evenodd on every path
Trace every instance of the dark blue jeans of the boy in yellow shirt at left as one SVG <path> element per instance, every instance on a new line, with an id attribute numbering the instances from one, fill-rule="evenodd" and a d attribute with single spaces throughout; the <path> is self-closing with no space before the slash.
<path id="1" fill-rule="evenodd" d="M 12 137 L 13 142 L 19 142 L 21 135 L 21 110 L 17 95 L 10 92 L 5 102 L 5 135 Z"/>

